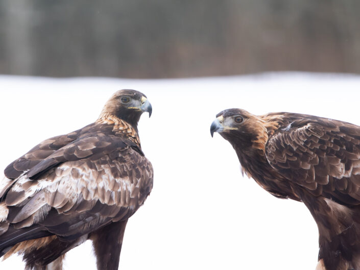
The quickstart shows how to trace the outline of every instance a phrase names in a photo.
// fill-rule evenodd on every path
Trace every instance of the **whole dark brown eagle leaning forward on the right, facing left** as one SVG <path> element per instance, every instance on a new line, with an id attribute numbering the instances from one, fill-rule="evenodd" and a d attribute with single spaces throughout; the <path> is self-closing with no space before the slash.
<path id="1" fill-rule="evenodd" d="M 296 113 L 220 112 L 210 127 L 243 171 L 278 198 L 303 202 L 319 228 L 322 270 L 360 270 L 360 127 Z"/>

